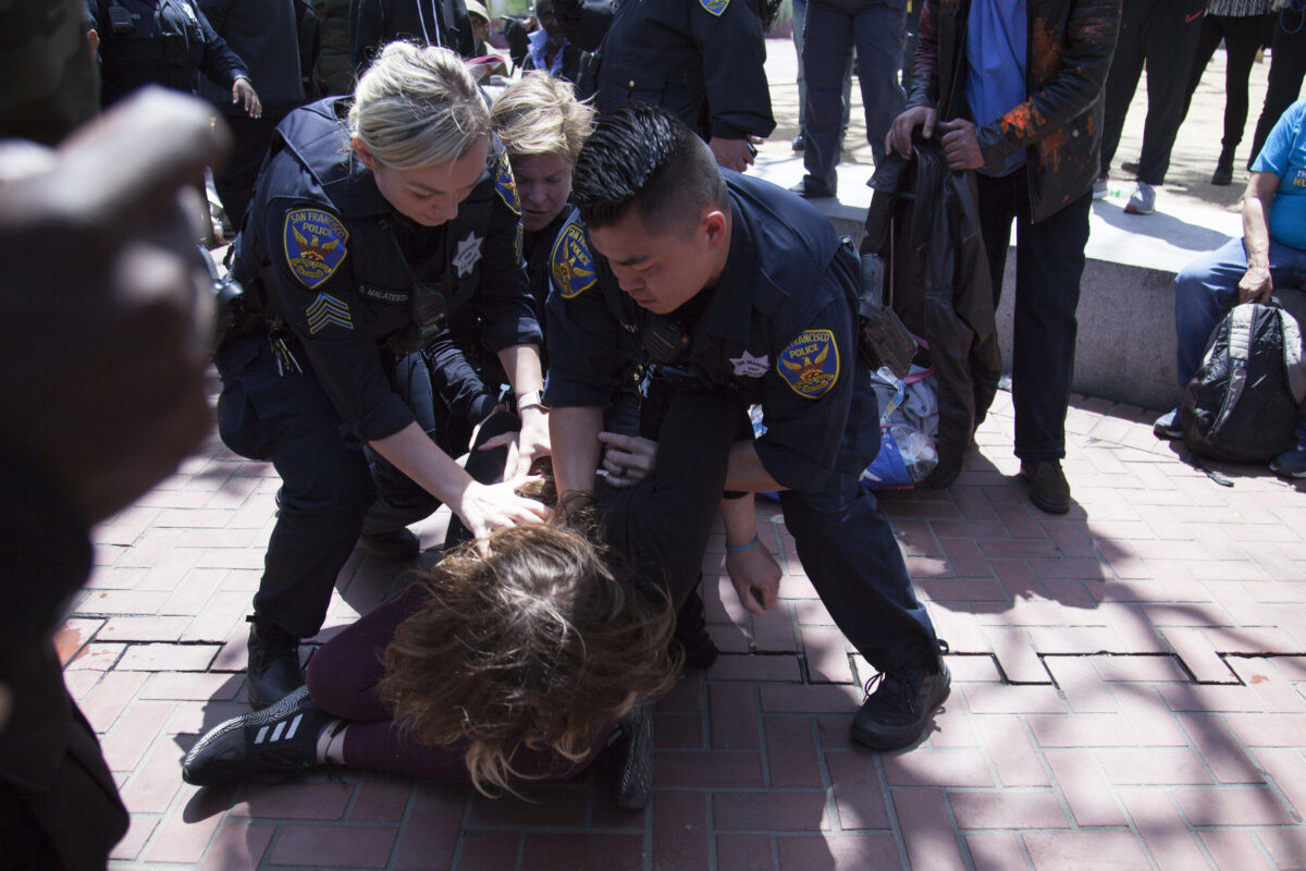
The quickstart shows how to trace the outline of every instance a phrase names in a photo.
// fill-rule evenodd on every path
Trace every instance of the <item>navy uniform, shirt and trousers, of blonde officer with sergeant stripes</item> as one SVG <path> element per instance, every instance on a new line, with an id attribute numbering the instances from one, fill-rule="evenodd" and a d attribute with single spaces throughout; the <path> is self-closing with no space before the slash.
<path id="1" fill-rule="evenodd" d="M 396 213 L 351 155 L 347 108 L 347 98 L 325 99 L 277 128 L 232 265 L 260 311 L 218 354 L 222 440 L 282 478 L 255 611 L 299 637 L 321 627 L 360 531 L 393 531 L 438 505 L 366 448 L 414 420 L 447 448 L 432 375 L 448 387 L 465 362 L 430 371 L 414 351 L 447 336 L 422 333 L 414 306 L 434 291 L 449 312 L 471 307 L 495 351 L 542 338 L 498 144 L 457 218 L 423 227 Z"/>

